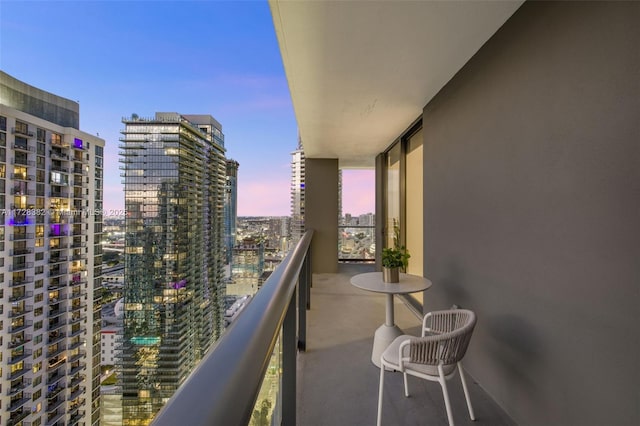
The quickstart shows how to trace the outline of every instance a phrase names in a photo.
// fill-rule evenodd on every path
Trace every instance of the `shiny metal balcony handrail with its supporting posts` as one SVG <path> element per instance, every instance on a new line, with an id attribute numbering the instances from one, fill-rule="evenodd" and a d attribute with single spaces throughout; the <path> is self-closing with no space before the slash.
<path id="1" fill-rule="evenodd" d="M 304 349 L 310 285 L 308 230 L 153 421 L 173 426 L 249 424 L 282 329 L 284 424 L 295 424 L 295 352 Z M 300 309 L 296 329 L 296 287 Z M 296 336 L 298 335 L 298 336 Z M 297 341 L 292 345 L 292 341 Z M 293 401 L 292 401 L 293 399 Z"/>

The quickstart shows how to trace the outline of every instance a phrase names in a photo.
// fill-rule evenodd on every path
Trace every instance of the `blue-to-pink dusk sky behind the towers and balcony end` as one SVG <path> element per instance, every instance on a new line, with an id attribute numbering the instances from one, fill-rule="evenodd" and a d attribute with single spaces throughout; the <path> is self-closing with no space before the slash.
<path id="1" fill-rule="evenodd" d="M 266 1 L 0 0 L 0 68 L 80 103 L 105 148 L 105 209 L 124 208 L 122 117 L 211 114 L 240 163 L 239 216 L 290 214 L 297 125 Z M 345 171 L 343 212 L 374 210 L 372 170 Z"/>

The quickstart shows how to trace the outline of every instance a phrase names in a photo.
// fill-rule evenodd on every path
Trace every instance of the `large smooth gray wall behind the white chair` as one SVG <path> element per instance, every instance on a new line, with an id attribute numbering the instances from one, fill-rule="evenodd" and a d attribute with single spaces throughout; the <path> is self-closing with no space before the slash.
<path id="1" fill-rule="evenodd" d="M 425 309 L 519 424 L 640 424 L 638 22 L 526 3 L 424 110 Z"/>

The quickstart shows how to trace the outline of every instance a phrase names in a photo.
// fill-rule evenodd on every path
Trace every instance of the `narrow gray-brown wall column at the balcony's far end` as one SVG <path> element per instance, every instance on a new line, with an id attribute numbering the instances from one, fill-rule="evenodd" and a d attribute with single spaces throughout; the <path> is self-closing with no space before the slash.
<path id="1" fill-rule="evenodd" d="M 305 160 L 305 228 L 313 229 L 313 272 L 338 270 L 338 160 Z"/>

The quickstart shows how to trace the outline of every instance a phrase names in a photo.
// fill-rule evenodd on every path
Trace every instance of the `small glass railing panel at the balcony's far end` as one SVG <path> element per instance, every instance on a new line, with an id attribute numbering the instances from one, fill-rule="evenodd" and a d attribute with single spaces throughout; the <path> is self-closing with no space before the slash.
<path id="1" fill-rule="evenodd" d="M 338 260 L 373 262 L 376 258 L 376 227 L 368 225 L 338 226 Z"/>

